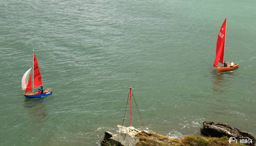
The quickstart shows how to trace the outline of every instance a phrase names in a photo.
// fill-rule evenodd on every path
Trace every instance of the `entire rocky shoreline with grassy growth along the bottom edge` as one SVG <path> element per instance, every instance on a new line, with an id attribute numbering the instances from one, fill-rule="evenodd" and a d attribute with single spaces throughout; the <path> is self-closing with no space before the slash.
<path id="1" fill-rule="evenodd" d="M 237 145 L 242 146 L 241 144 L 236 143 L 236 141 L 229 142 L 231 137 L 236 138 L 237 140 L 252 140 L 255 144 L 255 138 L 249 133 L 242 131 L 237 128 L 233 128 L 228 124 L 218 123 L 218 122 L 209 122 L 205 121 L 203 123 L 203 128 L 201 128 L 201 133 L 211 137 L 201 137 L 194 135 L 187 135 L 182 140 L 172 139 L 167 136 L 156 134 L 153 132 L 148 132 L 146 130 L 137 130 L 134 127 L 124 127 L 117 125 L 119 130 L 116 134 L 111 132 L 105 132 L 104 140 L 102 140 L 101 145 L 103 146 L 149 146 L 149 145 L 171 145 L 171 146 L 186 146 L 186 145 Z M 227 137 L 222 137 L 227 136 Z M 218 138 L 220 137 L 220 138 Z M 239 142 L 239 141 L 237 141 Z M 243 144 L 244 143 L 244 144 Z"/>

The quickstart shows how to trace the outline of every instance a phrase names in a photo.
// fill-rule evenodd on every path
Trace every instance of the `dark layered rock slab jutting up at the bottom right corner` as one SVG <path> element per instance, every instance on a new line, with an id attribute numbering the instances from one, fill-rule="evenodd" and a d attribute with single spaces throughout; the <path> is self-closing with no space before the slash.
<path id="1" fill-rule="evenodd" d="M 204 135 L 209 135 L 211 137 L 234 137 L 237 140 L 249 140 L 252 141 L 252 143 L 249 143 L 250 145 L 254 145 L 256 140 L 255 138 L 250 135 L 249 133 L 234 128 L 227 123 L 219 123 L 219 122 L 210 122 L 210 121 L 204 121 L 203 128 L 200 129 L 201 133 Z M 248 144 L 248 143 L 244 143 Z"/>

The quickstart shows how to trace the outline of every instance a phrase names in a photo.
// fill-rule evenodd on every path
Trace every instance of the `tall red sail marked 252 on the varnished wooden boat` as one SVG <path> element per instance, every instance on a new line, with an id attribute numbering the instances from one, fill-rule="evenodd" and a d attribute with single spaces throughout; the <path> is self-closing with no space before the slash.
<path id="1" fill-rule="evenodd" d="M 216 45 L 216 58 L 215 61 L 218 57 L 218 52 L 220 51 L 220 55 L 218 57 L 217 60 L 219 60 L 220 63 L 223 64 L 223 59 L 224 59 L 224 49 L 225 49 L 225 37 L 226 37 L 226 23 L 227 22 L 227 18 L 225 18 L 221 29 L 219 31 L 218 34 L 218 40 L 217 40 L 217 45 Z M 216 64 L 215 64 L 216 65 Z M 215 65 L 213 65 L 214 67 L 216 67 Z M 217 67 L 218 67 L 218 63 L 217 63 Z"/>

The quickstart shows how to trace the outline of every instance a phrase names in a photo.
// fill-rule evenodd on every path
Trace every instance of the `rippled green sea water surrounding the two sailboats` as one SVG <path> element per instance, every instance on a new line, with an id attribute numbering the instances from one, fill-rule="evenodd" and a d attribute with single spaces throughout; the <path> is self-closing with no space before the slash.
<path id="1" fill-rule="evenodd" d="M 0 1 L 0 145 L 94 146 L 122 124 L 129 85 L 148 130 L 200 135 L 205 120 L 256 136 L 256 1 Z M 216 41 L 227 17 L 225 61 Z M 45 88 L 26 99 L 33 49 Z M 141 129 L 133 109 L 133 126 Z M 129 108 L 128 108 L 129 111 Z M 129 126 L 129 112 L 125 126 Z"/>

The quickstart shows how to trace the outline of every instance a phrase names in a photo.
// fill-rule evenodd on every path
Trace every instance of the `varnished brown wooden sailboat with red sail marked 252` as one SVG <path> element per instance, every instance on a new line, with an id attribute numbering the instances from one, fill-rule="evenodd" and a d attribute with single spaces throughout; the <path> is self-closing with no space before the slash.
<path id="1" fill-rule="evenodd" d="M 218 34 L 218 40 L 216 45 L 216 58 L 214 60 L 213 67 L 217 68 L 217 72 L 230 71 L 239 66 L 239 64 L 235 64 L 233 67 L 230 67 L 230 64 L 227 67 L 219 66 L 219 62 L 223 64 L 224 61 L 224 51 L 225 51 L 225 39 L 226 39 L 226 26 L 227 26 L 227 18 L 225 18 L 221 29 Z"/>

